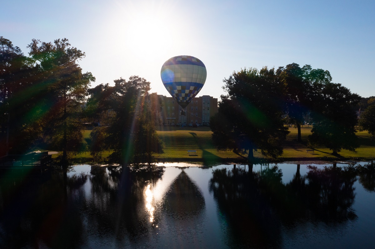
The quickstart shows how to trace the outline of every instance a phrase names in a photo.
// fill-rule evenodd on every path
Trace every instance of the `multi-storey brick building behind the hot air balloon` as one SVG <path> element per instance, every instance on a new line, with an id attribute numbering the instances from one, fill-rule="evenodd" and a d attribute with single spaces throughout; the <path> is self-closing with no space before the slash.
<path id="1" fill-rule="evenodd" d="M 208 95 L 195 97 L 186 107 L 185 115 L 181 115 L 182 108 L 172 97 L 157 95 L 163 101 L 160 120 L 163 124 L 206 124 L 210 117 L 217 113 L 217 98 Z"/>

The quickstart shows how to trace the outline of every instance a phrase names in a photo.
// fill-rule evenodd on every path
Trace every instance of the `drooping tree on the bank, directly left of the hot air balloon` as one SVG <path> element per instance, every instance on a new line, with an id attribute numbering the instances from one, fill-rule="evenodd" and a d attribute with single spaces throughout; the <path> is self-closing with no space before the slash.
<path id="1" fill-rule="evenodd" d="M 90 89 L 93 95 L 89 99 L 99 112 L 111 112 L 104 130 L 104 143 L 114 150 L 110 160 L 122 165 L 150 162 L 153 153 L 162 153 L 163 147 L 155 130 L 150 82 L 138 76 L 114 82 L 114 86 L 101 84 Z"/>

